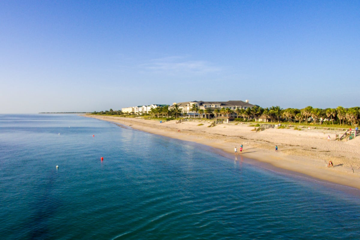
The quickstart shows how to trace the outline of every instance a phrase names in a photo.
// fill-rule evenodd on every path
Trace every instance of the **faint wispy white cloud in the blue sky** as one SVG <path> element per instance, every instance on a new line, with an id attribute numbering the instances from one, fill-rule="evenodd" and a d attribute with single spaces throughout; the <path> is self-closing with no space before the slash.
<path id="1" fill-rule="evenodd" d="M 221 69 L 207 61 L 186 60 L 186 57 L 171 56 L 153 59 L 149 63 L 141 64 L 143 71 L 161 74 L 208 74 L 219 72 Z"/>

